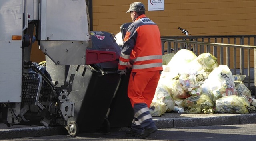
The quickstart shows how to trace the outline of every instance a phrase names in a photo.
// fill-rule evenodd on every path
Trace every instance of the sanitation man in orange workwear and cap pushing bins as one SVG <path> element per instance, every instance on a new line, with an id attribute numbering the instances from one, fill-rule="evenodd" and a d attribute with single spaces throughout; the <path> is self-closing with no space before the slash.
<path id="1" fill-rule="evenodd" d="M 135 116 L 126 135 L 144 138 L 157 131 L 149 106 L 163 70 L 161 39 L 158 26 L 145 15 L 144 4 L 130 4 L 129 12 L 133 22 L 126 30 L 118 72 L 123 75 L 132 68 L 128 97 Z"/>

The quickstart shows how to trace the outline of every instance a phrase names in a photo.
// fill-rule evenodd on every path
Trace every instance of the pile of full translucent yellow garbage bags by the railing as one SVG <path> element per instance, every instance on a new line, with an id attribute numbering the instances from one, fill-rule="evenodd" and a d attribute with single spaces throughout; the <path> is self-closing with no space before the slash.
<path id="1" fill-rule="evenodd" d="M 233 75 L 210 53 L 196 56 L 181 49 L 163 55 L 163 71 L 150 105 L 150 114 L 165 112 L 247 114 L 256 100 L 244 85 L 245 75 Z"/>

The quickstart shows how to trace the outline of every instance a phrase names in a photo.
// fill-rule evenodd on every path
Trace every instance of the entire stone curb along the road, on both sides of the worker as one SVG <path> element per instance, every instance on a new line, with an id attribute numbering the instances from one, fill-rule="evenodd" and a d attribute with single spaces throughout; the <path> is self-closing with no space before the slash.
<path id="1" fill-rule="evenodd" d="M 153 117 L 158 129 L 192 126 L 235 125 L 256 123 L 256 112 L 251 114 L 178 114 L 165 113 Z M 1 127 L 1 126 L 0 126 Z M 3 126 L 2 126 L 3 128 Z M 127 130 L 127 127 L 118 130 Z M 116 130 L 116 129 L 114 129 Z M 0 128 L 0 139 L 38 137 L 50 135 L 68 135 L 64 127 L 12 127 Z"/>

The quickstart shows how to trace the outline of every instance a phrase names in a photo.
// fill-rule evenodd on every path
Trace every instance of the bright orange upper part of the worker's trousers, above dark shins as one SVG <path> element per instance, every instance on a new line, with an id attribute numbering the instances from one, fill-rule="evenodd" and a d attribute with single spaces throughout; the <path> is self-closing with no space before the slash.
<path id="1" fill-rule="evenodd" d="M 148 108 L 154 98 L 161 71 L 132 72 L 128 84 L 128 97 L 132 107 L 146 103 Z"/>

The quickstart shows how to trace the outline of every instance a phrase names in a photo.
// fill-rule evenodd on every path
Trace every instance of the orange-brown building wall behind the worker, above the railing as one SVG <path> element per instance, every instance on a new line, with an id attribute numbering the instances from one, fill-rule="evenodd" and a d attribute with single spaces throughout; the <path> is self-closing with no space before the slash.
<path id="1" fill-rule="evenodd" d="M 93 30 L 117 34 L 122 23 L 132 22 L 126 13 L 137 0 L 92 0 Z M 160 29 L 161 36 L 184 35 L 178 27 L 191 35 L 256 35 L 256 0 L 165 0 L 164 11 L 148 11 L 148 0 L 140 0 L 146 16 Z M 44 61 L 37 43 L 31 60 Z"/>

